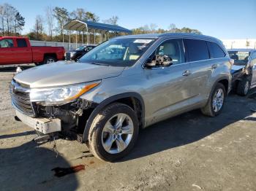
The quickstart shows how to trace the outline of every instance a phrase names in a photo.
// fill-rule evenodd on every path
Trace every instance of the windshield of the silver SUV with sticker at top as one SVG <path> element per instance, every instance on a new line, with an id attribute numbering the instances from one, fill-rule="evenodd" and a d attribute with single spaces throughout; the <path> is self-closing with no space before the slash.
<path id="1" fill-rule="evenodd" d="M 82 63 L 132 66 L 155 39 L 111 39 L 100 44 L 80 58 Z"/>

